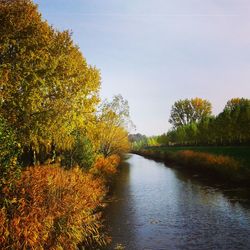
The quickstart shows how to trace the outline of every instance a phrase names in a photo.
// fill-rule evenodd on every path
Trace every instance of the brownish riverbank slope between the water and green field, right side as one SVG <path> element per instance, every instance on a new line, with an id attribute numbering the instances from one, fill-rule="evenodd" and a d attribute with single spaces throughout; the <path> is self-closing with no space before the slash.
<path id="1" fill-rule="evenodd" d="M 165 162 L 171 166 L 180 166 L 186 171 L 196 171 L 211 178 L 217 178 L 221 181 L 240 186 L 250 186 L 250 168 L 235 157 L 227 155 L 216 155 L 208 152 L 199 152 L 194 150 L 174 150 L 169 147 L 150 148 L 132 153 Z"/>

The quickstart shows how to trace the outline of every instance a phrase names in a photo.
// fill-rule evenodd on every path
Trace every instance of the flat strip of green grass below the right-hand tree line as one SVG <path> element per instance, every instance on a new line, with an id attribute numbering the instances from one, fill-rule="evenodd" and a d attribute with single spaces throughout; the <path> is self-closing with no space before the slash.
<path id="1" fill-rule="evenodd" d="M 210 153 L 233 157 L 244 166 L 250 168 L 250 146 L 171 146 L 171 147 L 149 147 L 150 150 L 177 152 L 180 150 L 192 150 L 195 152 Z"/>

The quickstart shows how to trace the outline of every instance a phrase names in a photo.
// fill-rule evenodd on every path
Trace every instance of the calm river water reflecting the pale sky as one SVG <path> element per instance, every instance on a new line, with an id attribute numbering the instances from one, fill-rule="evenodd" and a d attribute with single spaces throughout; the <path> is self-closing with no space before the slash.
<path id="1" fill-rule="evenodd" d="M 250 249 L 249 193 L 204 183 L 130 155 L 106 211 L 109 249 Z"/>

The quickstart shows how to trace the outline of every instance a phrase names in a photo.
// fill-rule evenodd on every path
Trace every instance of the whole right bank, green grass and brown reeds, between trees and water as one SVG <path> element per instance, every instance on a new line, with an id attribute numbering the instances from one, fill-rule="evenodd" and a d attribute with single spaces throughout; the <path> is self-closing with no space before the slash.
<path id="1" fill-rule="evenodd" d="M 224 181 L 249 185 L 247 150 L 249 147 L 236 150 L 233 147 L 151 147 L 133 153 L 178 165 L 185 170 L 196 170 Z"/>

